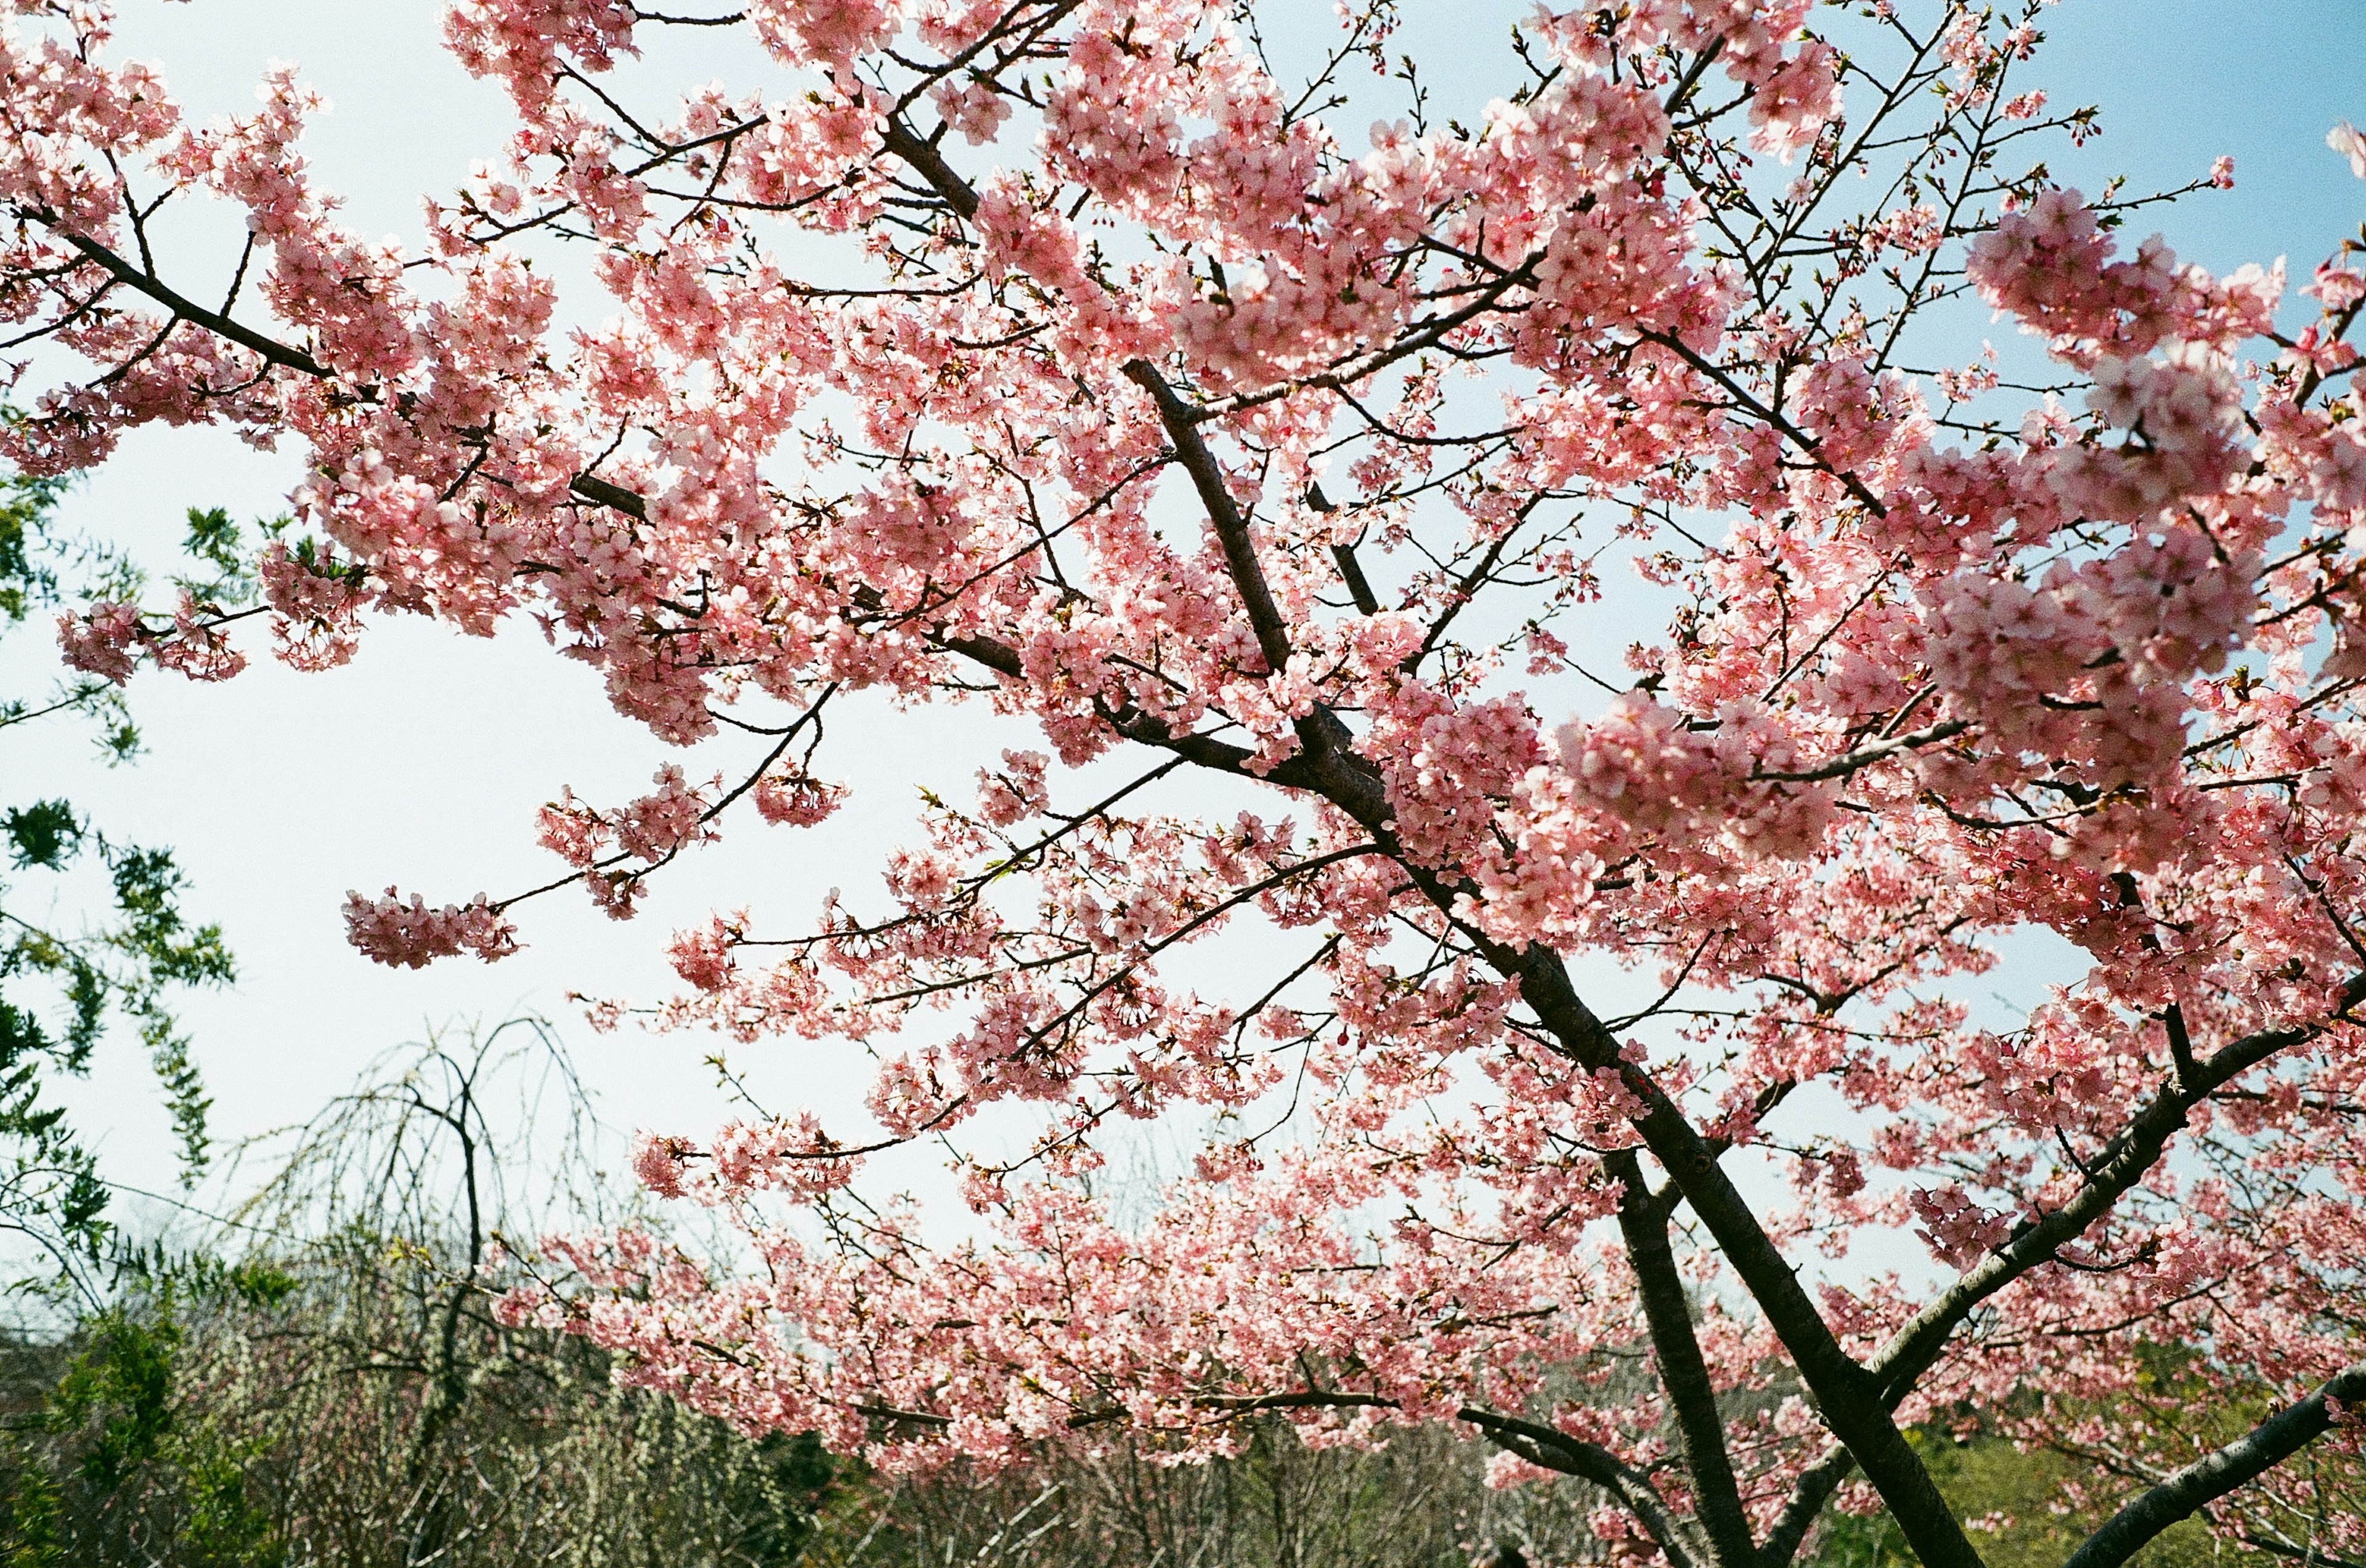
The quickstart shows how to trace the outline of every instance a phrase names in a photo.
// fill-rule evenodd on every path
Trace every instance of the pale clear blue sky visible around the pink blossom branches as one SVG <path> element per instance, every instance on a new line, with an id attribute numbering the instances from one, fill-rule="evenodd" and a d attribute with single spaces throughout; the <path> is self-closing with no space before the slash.
<path id="1" fill-rule="evenodd" d="M 246 109 L 265 61 L 298 61 L 334 99 L 308 142 L 322 180 L 348 194 L 357 227 L 409 239 L 419 194 L 447 192 L 504 135 L 497 95 L 440 54 L 438 9 L 433 0 L 125 0 L 121 40 L 128 54 L 159 59 L 201 116 Z M 1405 9 L 1403 47 L 1439 78 L 1448 106 L 1495 92 L 1486 61 L 1500 59 L 1500 31 L 1474 50 L 1465 7 L 1408 0 Z M 2357 232 L 2366 184 L 2323 137 L 2335 118 L 2366 121 L 2366 0 L 2068 0 L 2047 26 L 2054 45 L 2039 85 L 2056 106 L 2101 104 L 2106 125 L 2082 154 L 2054 161 L 2066 180 L 2096 189 L 2127 173 L 2132 187 L 2165 187 L 2207 173 L 2217 154 L 2236 158 L 2234 192 L 2196 196 L 2148 225 L 2179 255 L 2217 270 L 2290 255 L 2300 281 Z M 700 73 L 741 85 L 741 64 Z M 192 237 L 192 255 L 206 244 Z M 1978 341 L 1964 350 L 1959 359 Z M 293 478 L 284 454 L 147 430 L 69 508 L 161 561 L 185 506 L 270 516 Z M 45 627 L 19 634 L 0 643 L 0 683 L 35 686 L 52 657 Z M 856 745 L 833 747 L 854 804 L 826 828 L 743 825 L 667 873 L 632 925 L 565 892 L 521 911 L 530 946 L 518 958 L 393 972 L 345 946 L 336 913 L 345 889 L 400 882 L 440 903 L 537 885 L 556 861 L 535 849 L 532 814 L 561 785 L 620 802 L 660 762 L 698 776 L 738 766 L 748 747 L 670 752 L 615 717 L 596 676 L 551 657 L 530 627 L 471 641 L 424 622 L 379 624 L 331 674 L 258 657 L 227 686 L 142 674 L 132 702 L 149 740 L 137 766 L 109 771 L 52 728 L 0 738 L 0 771 L 7 799 L 69 795 L 109 832 L 177 849 L 192 913 L 225 925 L 241 967 L 237 989 L 187 1003 L 230 1138 L 310 1114 L 364 1062 L 426 1029 L 518 1010 L 561 1022 L 610 1121 L 703 1133 L 726 1114 L 700 1062 L 715 1041 L 594 1036 L 568 991 L 655 998 L 672 986 L 665 934 L 710 908 L 757 903 L 788 925 L 830 885 L 868 892 L 880 847 L 909 830 L 916 773 L 968 792 L 991 747 L 1029 740 L 984 717 L 856 707 L 840 726 Z M 930 764 L 916 771 L 916 757 Z M 842 1048 L 767 1043 L 733 1050 L 733 1064 L 769 1102 L 823 1112 L 849 1107 L 866 1081 Z M 102 1128 L 104 1159 L 123 1180 L 170 1180 L 168 1128 L 132 1045 L 111 1045 L 71 1100 L 85 1126 Z"/>

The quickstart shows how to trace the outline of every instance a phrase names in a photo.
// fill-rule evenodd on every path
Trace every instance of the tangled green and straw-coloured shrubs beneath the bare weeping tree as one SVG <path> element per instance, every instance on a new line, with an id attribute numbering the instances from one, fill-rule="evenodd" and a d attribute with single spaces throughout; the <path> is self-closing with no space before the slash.
<path id="1" fill-rule="evenodd" d="M 0 1568 L 809 1561 L 838 1485 L 814 1438 L 618 1388 L 582 1341 L 494 1324 L 438 1258 L 353 1232 L 128 1258 L 114 1305 L 17 1350 L 35 1393 L 0 1452 Z M 447 1350 L 461 1393 L 428 1419 Z"/>

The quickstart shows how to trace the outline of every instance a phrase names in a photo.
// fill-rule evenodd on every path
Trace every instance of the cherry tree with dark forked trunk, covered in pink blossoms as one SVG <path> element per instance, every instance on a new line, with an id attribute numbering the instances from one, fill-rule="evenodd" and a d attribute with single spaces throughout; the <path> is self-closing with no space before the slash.
<path id="1" fill-rule="evenodd" d="M 1540 9 L 1460 123 L 1389 0 L 461 0 L 516 135 L 416 251 L 341 225 L 293 71 L 199 128 L 106 7 L 9 9 L 21 471 L 296 452 L 282 657 L 530 615 L 658 738 L 745 736 L 561 795 L 554 887 L 629 915 L 748 818 L 826 851 L 842 693 L 1046 747 L 930 797 L 878 908 L 674 937 L 662 1024 L 880 1062 L 873 1126 L 641 1140 L 757 1268 L 561 1239 L 513 1315 L 885 1469 L 1457 1424 L 1677 1568 L 1827 1507 L 1978 1563 L 1907 1438 L 1973 1407 L 2096 1459 L 2077 1568 L 2196 1511 L 2366 1547 L 2319 1507 L 2366 1398 L 2366 272 L 2129 246 L 2047 173 L 2094 121 L 2025 90 L 2037 5 Z M 168 274 L 196 199 L 246 244 Z M 196 598 L 62 641 L 246 657 Z M 419 965 L 516 903 L 345 915 Z M 2032 932 L 2073 960 L 1999 1017 Z M 1138 1119 L 1200 1152 L 1124 1216 Z M 864 1197 L 911 1142 L 968 1239 Z"/>

